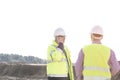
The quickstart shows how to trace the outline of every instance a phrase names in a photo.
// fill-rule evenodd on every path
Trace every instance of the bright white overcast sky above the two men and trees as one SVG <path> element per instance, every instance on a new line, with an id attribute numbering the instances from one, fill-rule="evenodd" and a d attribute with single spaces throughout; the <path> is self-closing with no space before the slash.
<path id="1" fill-rule="evenodd" d="M 100 25 L 102 43 L 120 60 L 119 4 L 119 0 L 0 0 L 0 53 L 46 59 L 54 30 L 62 27 L 75 62 L 80 49 L 91 43 L 91 28 Z"/>

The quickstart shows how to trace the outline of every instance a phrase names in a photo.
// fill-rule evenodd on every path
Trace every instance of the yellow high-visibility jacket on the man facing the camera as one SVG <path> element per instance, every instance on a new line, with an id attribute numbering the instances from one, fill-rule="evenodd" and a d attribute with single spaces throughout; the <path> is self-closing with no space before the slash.
<path id="1" fill-rule="evenodd" d="M 70 51 L 67 49 L 67 47 L 64 47 L 67 54 L 67 59 L 69 63 L 68 65 L 65 54 L 61 49 L 57 48 L 57 46 L 58 44 L 53 41 L 53 44 L 48 47 L 47 76 L 67 77 L 69 73 L 70 80 L 74 80 L 73 67 L 70 60 Z"/>

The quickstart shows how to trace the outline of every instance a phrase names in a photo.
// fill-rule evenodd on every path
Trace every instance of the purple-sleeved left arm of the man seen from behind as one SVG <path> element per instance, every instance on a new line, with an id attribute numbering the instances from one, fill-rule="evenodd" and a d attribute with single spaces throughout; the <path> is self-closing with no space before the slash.
<path id="1" fill-rule="evenodd" d="M 84 54 L 83 51 L 81 50 L 79 52 L 78 59 L 75 63 L 75 72 L 76 72 L 76 77 L 77 80 L 82 80 L 82 71 L 83 71 L 83 60 L 84 60 Z"/>

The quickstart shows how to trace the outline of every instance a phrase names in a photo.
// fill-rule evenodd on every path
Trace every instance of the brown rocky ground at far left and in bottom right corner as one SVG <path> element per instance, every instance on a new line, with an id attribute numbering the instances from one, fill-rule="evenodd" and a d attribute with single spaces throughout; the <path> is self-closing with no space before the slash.
<path id="1" fill-rule="evenodd" d="M 46 65 L 0 63 L 0 80 L 47 80 Z M 112 80 L 120 80 L 120 72 Z"/>

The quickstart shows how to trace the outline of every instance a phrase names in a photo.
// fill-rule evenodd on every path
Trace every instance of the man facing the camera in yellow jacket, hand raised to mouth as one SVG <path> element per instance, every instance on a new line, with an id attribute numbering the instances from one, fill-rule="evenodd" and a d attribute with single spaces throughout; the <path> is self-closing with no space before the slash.
<path id="1" fill-rule="evenodd" d="M 65 36 L 65 31 L 57 28 L 54 32 L 55 40 L 48 47 L 48 80 L 74 80 L 70 51 L 64 45 Z"/>

